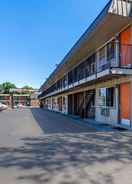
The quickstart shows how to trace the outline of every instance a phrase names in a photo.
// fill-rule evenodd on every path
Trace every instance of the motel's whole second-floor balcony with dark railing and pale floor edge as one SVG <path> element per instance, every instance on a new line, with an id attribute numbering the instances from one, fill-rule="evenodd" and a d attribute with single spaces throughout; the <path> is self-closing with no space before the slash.
<path id="1" fill-rule="evenodd" d="M 106 76 L 132 74 L 132 45 L 112 41 L 52 85 L 42 96 L 51 96 Z"/>

